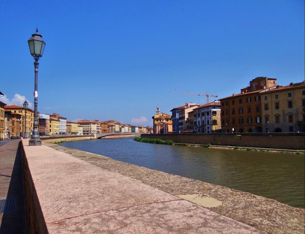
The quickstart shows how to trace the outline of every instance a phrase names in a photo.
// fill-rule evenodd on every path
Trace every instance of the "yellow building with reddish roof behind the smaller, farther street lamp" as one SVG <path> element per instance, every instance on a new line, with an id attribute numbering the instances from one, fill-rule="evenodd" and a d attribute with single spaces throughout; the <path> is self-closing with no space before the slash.
<path id="1" fill-rule="evenodd" d="M 27 109 L 24 110 L 23 107 L 19 107 L 16 105 L 12 106 L 5 106 L 5 110 L 10 110 L 12 113 L 20 114 L 21 116 L 25 116 L 25 134 L 26 136 L 31 136 L 33 131 L 33 124 L 34 124 L 34 110 Z M 24 129 L 22 128 L 22 132 Z"/>

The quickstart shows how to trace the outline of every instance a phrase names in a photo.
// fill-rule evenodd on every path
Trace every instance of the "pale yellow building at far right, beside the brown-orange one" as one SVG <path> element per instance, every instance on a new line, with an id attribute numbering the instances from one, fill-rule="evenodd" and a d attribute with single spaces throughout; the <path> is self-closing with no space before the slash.
<path id="1" fill-rule="evenodd" d="M 305 83 L 260 92 L 264 132 L 304 132 Z"/>

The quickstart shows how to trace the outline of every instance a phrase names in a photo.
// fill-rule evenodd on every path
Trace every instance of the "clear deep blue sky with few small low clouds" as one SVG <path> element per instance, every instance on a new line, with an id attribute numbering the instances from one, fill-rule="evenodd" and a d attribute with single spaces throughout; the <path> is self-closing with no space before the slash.
<path id="1" fill-rule="evenodd" d="M 152 126 L 157 105 L 171 114 L 199 102 L 170 91 L 219 99 L 258 76 L 279 85 L 305 77 L 302 0 L 0 0 L 0 100 L 9 105 L 26 98 L 34 109 L 27 40 L 36 27 L 46 43 L 38 111 L 70 121 Z"/>

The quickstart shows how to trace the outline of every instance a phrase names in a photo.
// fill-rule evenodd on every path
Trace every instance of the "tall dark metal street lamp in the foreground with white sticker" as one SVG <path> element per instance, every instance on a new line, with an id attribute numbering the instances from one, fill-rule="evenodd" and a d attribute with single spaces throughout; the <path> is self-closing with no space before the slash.
<path id="1" fill-rule="evenodd" d="M 37 79 L 38 79 L 38 60 L 42 57 L 43 51 L 45 49 L 45 42 L 41 38 L 42 36 L 38 33 L 36 28 L 36 33 L 32 34 L 32 37 L 27 41 L 30 47 L 30 52 L 33 58 L 35 59 L 34 68 L 35 68 L 35 90 L 34 90 L 34 124 L 33 132 L 29 145 L 41 145 L 41 139 L 38 134 L 38 116 L 37 116 Z"/>

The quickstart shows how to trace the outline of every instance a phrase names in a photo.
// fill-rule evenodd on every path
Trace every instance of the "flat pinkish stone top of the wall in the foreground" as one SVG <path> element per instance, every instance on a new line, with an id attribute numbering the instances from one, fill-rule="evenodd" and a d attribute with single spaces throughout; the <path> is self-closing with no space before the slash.
<path id="1" fill-rule="evenodd" d="M 49 233 L 265 233 L 45 145 L 23 144 Z"/>

